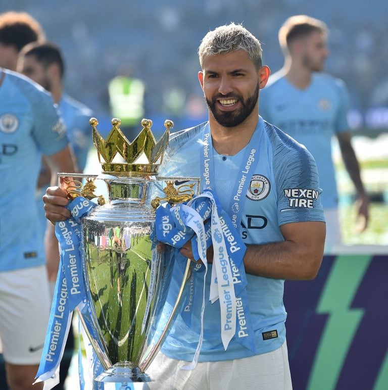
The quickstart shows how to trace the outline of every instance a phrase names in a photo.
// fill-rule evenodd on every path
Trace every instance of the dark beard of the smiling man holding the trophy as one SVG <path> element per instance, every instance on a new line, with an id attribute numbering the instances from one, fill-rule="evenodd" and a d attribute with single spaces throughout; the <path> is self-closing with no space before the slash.
<path id="1" fill-rule="evenodd" d="M 241 108 L 234 111 L 217 111 L 217 99 L 237 99 L 241 102 Z M 259 83 L 256 85 L 255 92 L 249 96 L 246 100 L 243 99 L 243 96 L 230 93 L 227 95 L 218 94 L 213 97 L 210 101 L 206 99 L 206 103 L 209 107 L 210 112 L 212 113 L 214 119 L 224 127 L 234 127 L 238 126 L 240 123 L 243 123 L 252 113 L 255 108 L 257 101 L 259 99 Z"/>

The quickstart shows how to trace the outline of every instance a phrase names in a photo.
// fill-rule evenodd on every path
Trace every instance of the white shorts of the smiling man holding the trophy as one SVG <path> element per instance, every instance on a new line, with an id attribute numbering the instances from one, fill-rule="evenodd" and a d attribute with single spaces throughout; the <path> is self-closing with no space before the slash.
<path id="1" fill-rule="evenodd" d="M 180 367 L 187 362 L 158 353 L 146 370 L 159 390 L 292 390 L 287 345 L 266 354 L 250 358 L 198 363 L 192 370 Z"/>

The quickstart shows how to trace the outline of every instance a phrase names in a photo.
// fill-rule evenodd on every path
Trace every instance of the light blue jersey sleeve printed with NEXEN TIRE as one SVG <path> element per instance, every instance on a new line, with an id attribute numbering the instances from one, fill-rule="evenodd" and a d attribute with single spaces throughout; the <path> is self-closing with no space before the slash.
<path id="1" fill-rule="evenodd" d="M 314 158 L 293 138 L 282 133 L 275 144 L 273 170 L 279 226 L 292 222 L 323 221 L 318 170 Z"/>

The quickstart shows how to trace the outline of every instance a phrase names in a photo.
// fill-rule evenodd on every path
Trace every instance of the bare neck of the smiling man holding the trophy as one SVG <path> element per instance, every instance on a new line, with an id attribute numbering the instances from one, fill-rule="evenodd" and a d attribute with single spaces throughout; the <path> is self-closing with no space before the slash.
<path id="1" fill-rule="evenodd" d="M 235 127 L 221 126 L 210 114 L 209 125 L 212 143 L 218 154 L 234 156 L 248 145 L 259 121 L 258 112 L 256 111 L 256 115 L 252 114 Z"/>

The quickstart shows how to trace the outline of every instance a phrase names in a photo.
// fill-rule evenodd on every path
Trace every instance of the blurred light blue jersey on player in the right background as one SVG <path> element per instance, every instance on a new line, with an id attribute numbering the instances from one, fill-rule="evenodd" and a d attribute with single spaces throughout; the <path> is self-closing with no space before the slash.
<path id="1" fill-rule="evenodd" d="M 305 145 L 313 155 L 324 209 L 338 205 L 331 138 L 349 130 L 348 109 L 344 82 L 325 73 L 313 73 L 306 89 L 298 89 L 285 77 L 274 74 L 260 91 L 261 116 Z"/>

